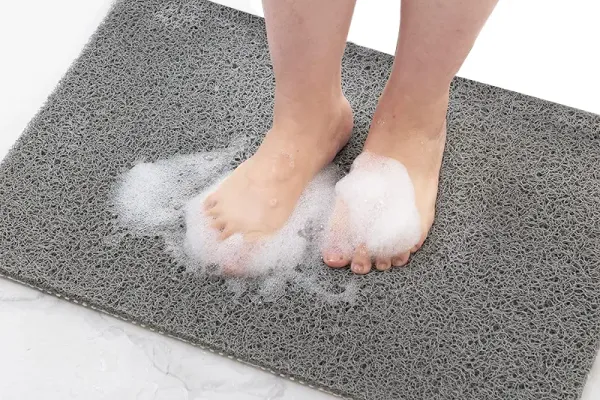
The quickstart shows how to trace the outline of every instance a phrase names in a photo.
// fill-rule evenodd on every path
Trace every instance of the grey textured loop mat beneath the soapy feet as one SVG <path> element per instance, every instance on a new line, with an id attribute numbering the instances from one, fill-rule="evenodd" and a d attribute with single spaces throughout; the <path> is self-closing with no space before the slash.
<path id="1" fill-rule="evenodd" d="M 346 52 L 345 167 L 391 64 Z M 104 240 L 121 171 L 241 136 L 250 154 L 272 103 L 261 19 L 120 1 L 2 164 L 1 273 L 354 398 L 579 396 L 600 338 L 598 116 L 457 80 L 430 239 L 391 273 L 323 267 L 357 284 L 351 304 L 294 287 L 234 300 L 160 239 Z"/>

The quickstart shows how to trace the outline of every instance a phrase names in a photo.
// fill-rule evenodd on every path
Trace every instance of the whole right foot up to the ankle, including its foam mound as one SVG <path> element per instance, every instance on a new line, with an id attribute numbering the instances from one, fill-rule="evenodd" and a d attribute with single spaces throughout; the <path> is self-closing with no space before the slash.
<path id="1" fill-rule="evenodd" d="M 383 170 L 371 171 L 377 175 L 372 175 L 368 179 L 357 178 L 357 174 L 366 172 L 363 166 L 357 166 L 355 162 L 347 178 L 353 180 L 355 186 L 360 185 L 360 182 L 368 185 L 368 182 L 372 182 L 375 177 L 389 171 L 390 165 L 391 168 L 399 170 L 392 174 L 396 178 L 390 177 L 389 173 L 387 177 L 377 178 L 381 180 L 379 188 L 369 190 L 365 188 L 362 192 L 356 191 L 353 197 L 348 197 L 347 190 L 343 188 L 344 180 L 338 183 L 336 207 L 328 227 L 329 239 L 326 240 L 323 249 L 323 259 L 327 265 L 334 268 L 350 265 L 351 270 L 357 274 L 366 274 L 373 267 L 385 271 L 393 266 L 406 265 L 411 253 L 421 247 L 435 216 L 439 172 L 446 139 L 447 99 L 447 96 L 442 97 L 439 101 L 424 106 L 423 104 L 410 104 L 410 102 L 401 104 L 402 102 L 387 100 L 385 95 L 382 97 L 365 143 L 363 155 L 359 158 L 362 159 L 366 154 L 370 158 L 379 157 L 380 167 L 370 168 L 382 168 Z M 403 175 L 403 172 L 400 171 L 402 170 L 398 166 L 400 164 L 395 163 L 394 160 L 405 168 L 408 175 L 405 180 L 408 183 L 404 182 L 402 178 L 406 174 Z M 357 159 L 357 161 L 359 160 Z M 363 180 L 361 181 L 361 179 Z M 342 187 L 339 187 L 340 185 Z M 381 187 L 384 185 L 387 185 L 388 189 Z M 395 193 L 390 191 L 390 186 L 397 191 Z M 360 224 L 361 221 L 352 217 L 351 206 L 360 204 L 360 202 L 367 204 L 370 200 L 366 198 L 369 195 L 365 193 L 370 192 L 372 197 L 374 190 L 378 191 L 377 196 L 387 198 L 381 199 L 381 207 L 377 211 L 371 212 L 375 215 L 371 215 L 370 218 L 366 215 L 359 218 L 359 220 L 362 218 L 362 223 L 369 225 L 374 225 L 372 221 L 381 219 L 383 227 L 375 233 L 379 237 L 376 240 L 370 240 L 369 236 L 373 236 L 373 233 L 366 237 L 361 237 L 361 234 L 357 235 L 356 231 L 361 229 L 357 223 Z M 396 201 L 393 199 L 398 198 L 402 198 L 398 201 L 405 203 L 386 205 L 390 199 Z M 408 203 L 409 198 L 412 199 L 414 205 L 411 206 Z M 363 207 L 364 209 L 365 207 Z M 416 236 L 411 233 L 412 228 L 408 226 L 413 221 L 409 215 L 411 210 L 418 212 L 417 221 L 420 221 L 420 223 L 417 222 L 419 226 Z M 364 213 L 364 211 L 355 211 L 354 214 L 361 212 Z M 378 213 L 381 215 L 376 215 Z M 392 224 L 391 228 L 390 224 Z M 389 242 L 390 240 L 396 243 L 387 243 L 383 247 L 377 244 L 378 241 Z"/>

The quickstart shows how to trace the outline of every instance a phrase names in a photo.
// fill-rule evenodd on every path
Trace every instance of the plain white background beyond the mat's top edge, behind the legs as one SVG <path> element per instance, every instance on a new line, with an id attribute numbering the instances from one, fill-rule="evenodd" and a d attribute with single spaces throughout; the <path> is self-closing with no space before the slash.
<path id="1" fill-rule="evenodd" d="M 220 0 L 262 14 L 260 0 Z M 111 0 L 0 0 L 0 157 Z M 393 53 L 399 0 L 359 0 L 349 40 Z M 600 1 L 500 0 L 459 75 L 600 114 Z"/>

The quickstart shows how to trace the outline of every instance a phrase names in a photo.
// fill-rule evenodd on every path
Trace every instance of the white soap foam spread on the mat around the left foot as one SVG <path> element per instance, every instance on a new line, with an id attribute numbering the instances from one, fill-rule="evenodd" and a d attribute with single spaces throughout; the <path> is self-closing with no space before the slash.
<path id="1" fill-rule="evenodd" d="M 226 150 L 138 163 L 123 174 L 113 191 L 117 226 L 136 235 L 161 237 L 166 250 L 188 272 L 222 275 L 236 295 L 255 288 L 261 298 L 276 299 L 291 284 L 292 289 L 326 301 L 351 302 L 356 296 L 354 278 L 341 286 L 334 283 L 319 251 L 339 170 L 329 166 L 319 173 L 286 225 L 266 240 L 250 245 L 234 234 L 218 241 L 202 205 L 234 168 L 235 153 Z M 236 266 L 240 268 L 232 271 Z"/>

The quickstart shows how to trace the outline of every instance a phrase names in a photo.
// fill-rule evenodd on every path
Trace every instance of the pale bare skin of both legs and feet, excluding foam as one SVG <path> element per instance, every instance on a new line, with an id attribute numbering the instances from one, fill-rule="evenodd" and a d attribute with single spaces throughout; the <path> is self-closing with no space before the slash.
<path id="1" fill-rule="evenodd" d="M 496 2 L 402 0 L 394 66 L 364 151 L 408 170 L 421 240 L 384 258 L 365 246 L 351 257 L 326 248 L 330 267 L 350 265 L 366 274 L 404 266 L 425 241 L 435 216 L 450 82 Z M 341 88 L 341 59 L 354 1 L 263 0 L 263 7 L 276 82 L 273 125 L 257 152 L 205 202 L 222 239 L 241 233 L 249 243 L 286 223 L 306 185 L 348 142 L 353 121 Z M 327 229 L 343 229 L 345 207 L 337 204 Z"/>

